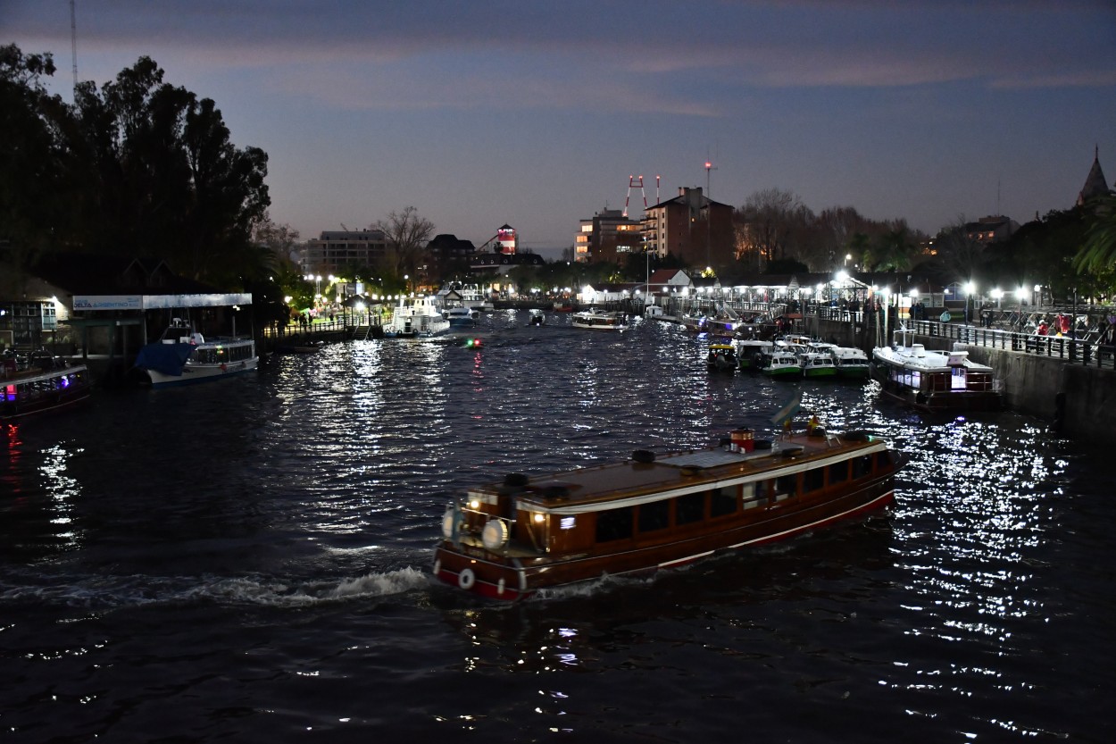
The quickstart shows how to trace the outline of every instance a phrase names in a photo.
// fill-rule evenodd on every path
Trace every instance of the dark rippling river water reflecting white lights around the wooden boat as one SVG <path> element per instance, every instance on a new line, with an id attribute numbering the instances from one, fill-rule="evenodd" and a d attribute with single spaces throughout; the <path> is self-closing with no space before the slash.
<path id="1" fill-rule="evenodd" d="M 0 430 L 0 738 L 1112 741 L 1116 507 L 1087 442 L 710 375 L 654 321 L 478 334 Z M 430 579 L 464 486 L 762 432 L 796 388 L 911 456 L 894 508 L 510 607 Z"/>

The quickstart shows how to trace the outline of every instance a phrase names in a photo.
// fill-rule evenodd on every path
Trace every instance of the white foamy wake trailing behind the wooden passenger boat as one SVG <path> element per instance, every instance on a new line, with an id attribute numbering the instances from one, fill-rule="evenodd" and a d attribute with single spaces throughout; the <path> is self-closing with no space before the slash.
<path id="1" fill-rule="evenodd" d="M 0 603 L 89 609 L 203 602 L 305 607 L 404 594 L 425 589 L 427 581 L 426 573 L 414 567 L 310 584 L 291 584 L 266 576 L 94 576 L 70 584 L 0 586 Z"/>

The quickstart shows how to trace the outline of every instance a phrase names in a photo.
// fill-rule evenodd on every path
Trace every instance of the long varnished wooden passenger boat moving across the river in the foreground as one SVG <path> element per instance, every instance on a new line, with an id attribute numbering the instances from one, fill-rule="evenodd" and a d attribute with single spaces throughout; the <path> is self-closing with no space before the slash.
<path id="1" fill-rule="evenodd" d="M 785 540 L 894 498 L 903 457 L 878 437 L 731 433 L 708 449 L 636 450 L 623 462 L 475 487 L 445 512 L 433 573 L 519 600 Z"/>

